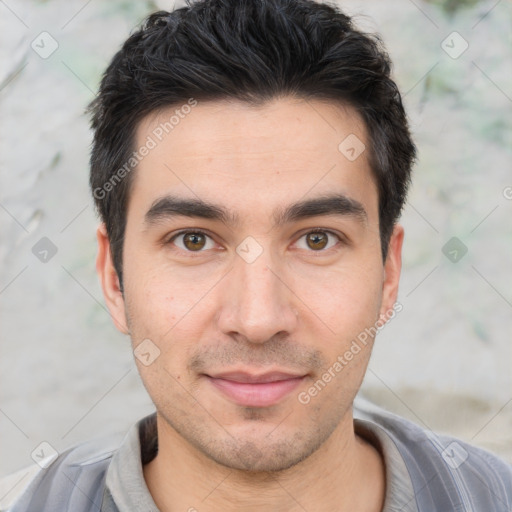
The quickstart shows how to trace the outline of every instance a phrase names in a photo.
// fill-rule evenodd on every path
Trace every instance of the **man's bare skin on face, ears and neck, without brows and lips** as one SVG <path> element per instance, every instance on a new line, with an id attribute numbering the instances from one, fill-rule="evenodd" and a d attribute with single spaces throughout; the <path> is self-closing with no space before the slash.
<path id="1" fill-rule="evenodd" d="M 174 109 L 143 120 L 137 147 Z M 382 509 L 382 456 L 354 432 L 352 416 L 373 340 L 308 404 L 298 400 L 392 310 L 398 292 L 403 228 L 395 226 L 383 262 L 368 150 L 355 161 L 338 150 L 350 134 L 369 148 L 355 110 L 332 102 L 200 102 L 134 175 L 124 294 L 99 227 L 97 270 L 114 322 L 134 348 L 150 339 L 160 350 L 148 366 L 136 360 L 157 409 L 159 452 L 144 476 L 160 510 Z M 358 201 L 366 219 L 330 214 L 274 226 L 276 208 L 333 192 Z M 239 223 L 147 223 L 167 194 L 220 204 Z M 173 238 L 198 228 L 210 237 L 192 245 L 199 251 Z M 308 241 L 316 228 L 329 240 L 323 249 Z M 249 236 L 262 249 L 252 263 L 236 252 Z M 235 369 L 306 377 L 277 404 L 245 407 L 204 376 Z"/>

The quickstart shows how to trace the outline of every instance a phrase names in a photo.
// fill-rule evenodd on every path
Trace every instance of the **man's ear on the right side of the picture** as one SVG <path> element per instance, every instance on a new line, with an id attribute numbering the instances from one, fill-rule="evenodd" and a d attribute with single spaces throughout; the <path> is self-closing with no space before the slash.
<path id="1" fill-rule="evenodd" d="M 402 244 L 404 241 L 404 228 L 395 224 L 393 233 L 389 239 L 388 253 L 384 262 L 384 280 L 382 283 L 382 303 L 380 318 L 388 320 L 393 305 L 398 297 L 398 283 L 402 270 Z"/>

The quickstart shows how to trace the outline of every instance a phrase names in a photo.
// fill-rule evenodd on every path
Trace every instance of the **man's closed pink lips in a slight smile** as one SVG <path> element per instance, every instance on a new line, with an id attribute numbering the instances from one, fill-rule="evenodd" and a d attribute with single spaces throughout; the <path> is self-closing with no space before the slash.
<path id="1" fill-rule="evenodd" d="M 269 407 L 289 395 L 306 377 L 287 372 L 250 374 L 225 372 L 205 375 L 225 398 L 245 407 Z"/>

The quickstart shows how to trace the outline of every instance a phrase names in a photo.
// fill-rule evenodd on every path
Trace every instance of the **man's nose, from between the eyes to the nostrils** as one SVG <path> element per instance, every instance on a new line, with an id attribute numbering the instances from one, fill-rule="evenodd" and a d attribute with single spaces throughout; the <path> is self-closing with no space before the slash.
<path id="1" fill-rule="evenodd" d="M 220 330 L 259 344 L 292 333 L 298 323 L 298 299 L 287 281 L 270 251 L 264 250 L 252 263 L 236 255 L 222 286 Z"/>

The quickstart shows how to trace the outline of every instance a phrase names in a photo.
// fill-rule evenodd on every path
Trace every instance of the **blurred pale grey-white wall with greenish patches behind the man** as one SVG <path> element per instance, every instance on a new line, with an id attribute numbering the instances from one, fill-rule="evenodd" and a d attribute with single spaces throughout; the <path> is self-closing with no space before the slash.
<path id="1" fill-rule="evenodd" d="M 338 4 L 382 35 L 419 147 L 403 310 L 361 394 L 512 461 L 512 5 Z M 174 5 L 0 1 L 0 476 L 153 410 L 95 273 L 84 109 L 130 31 Z"/>

